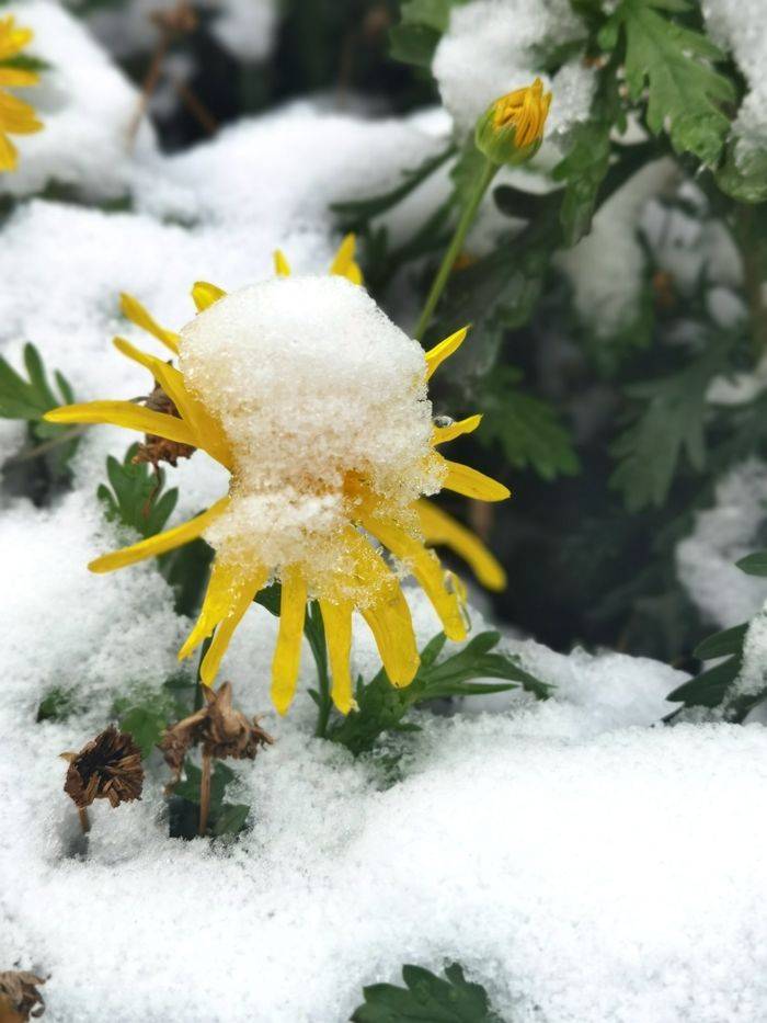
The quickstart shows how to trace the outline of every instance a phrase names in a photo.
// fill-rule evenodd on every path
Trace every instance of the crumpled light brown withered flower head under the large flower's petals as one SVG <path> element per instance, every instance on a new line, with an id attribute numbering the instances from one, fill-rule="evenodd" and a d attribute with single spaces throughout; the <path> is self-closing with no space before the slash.
<path id="1" fill-rule="evenodd" d="M 216 760 L 253 760 L 262 746 L 274 742 L 272 736 L 259 725 L 259 718 L 249 720 L 231 705 L 231 682 L 217 690 L 203 686 L 205 706 L 167 728 L 159 747 L 165 763 L 179 780 L 186 753 L 193 746 L 202 746 L 207 757 Z"/>

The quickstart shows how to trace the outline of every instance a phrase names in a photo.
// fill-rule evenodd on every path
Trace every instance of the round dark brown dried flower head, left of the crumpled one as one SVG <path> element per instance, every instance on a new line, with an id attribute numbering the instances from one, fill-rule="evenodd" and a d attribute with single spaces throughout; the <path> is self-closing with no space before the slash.
<path id="1" fill-rule="evenodd" d="M 62 753 L 69 761 L 64 791 L 78 808 L 94 799 L 108 799 L 113 807 L 141 798 L 144 768 L 141 751 L 128 732 L 114 725 L 87 742 L 79 753 Z"/>

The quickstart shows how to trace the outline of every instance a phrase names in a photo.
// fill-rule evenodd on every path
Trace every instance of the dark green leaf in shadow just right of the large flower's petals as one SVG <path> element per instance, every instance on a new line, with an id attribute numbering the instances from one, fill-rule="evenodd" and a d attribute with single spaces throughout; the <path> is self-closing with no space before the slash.
<path id="1" fill-rule="evenodd" d="M 497 440 L 506 459 L 517 468 L 529 466 L 543 479 L 573 476 L 580 463 L 568 431 L 551 406 L 516 385 L 520 374 L 504 366 L 488 375 L 479 402 L 484 412 L 479 440 Z"/>

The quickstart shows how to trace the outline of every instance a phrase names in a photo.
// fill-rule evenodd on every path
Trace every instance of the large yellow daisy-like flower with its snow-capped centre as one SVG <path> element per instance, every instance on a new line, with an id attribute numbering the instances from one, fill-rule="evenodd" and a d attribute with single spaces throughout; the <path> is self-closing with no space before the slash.
<path id="1" fill-rule="evenodd" d="M 353 236 L 344 239 L 330 276 L 291 276 L 282 252 L 275 269 L 271 281 L 230 295 L 195 284 L 198 315 L 181 333 L 123 296 L 126 316 L 170 349 L 180 368 L 122 338 L 114 343 L 149 370 L 178 416 L 130 401 L 93 401 L 55 409 L 46 419 L 114 423 L 202 448 L 224 465 L 231 474 L 227 497 L 90 568 L 123 568 L 205 535 L 216 558 L 180 657 L 213 635 L 201 667 L 209 685 L 251 602 L 278 580 L 274 703 L 285 713 L 293 700 L 306 604 L 314 599 L 325 626 L 332 698 L 345 714 L 354 706 L 353 611 L 370 627 L 394 685 L 408 685 L 419 666 L 410 610 L 379 544 L 416 578 L 447 636 L 463 639 L 462 588 L 426 544 L 451 547 L 491 589 L 504 586 L 504 572 L 476 536 L 424 495 L 444 487 L 499 501 L 508 490 L 437 452 L 481 419 L 435 423 L 426 397 L 427 379 L 466 329 L 424 355 L 356 286 L 362 274 Z"/>

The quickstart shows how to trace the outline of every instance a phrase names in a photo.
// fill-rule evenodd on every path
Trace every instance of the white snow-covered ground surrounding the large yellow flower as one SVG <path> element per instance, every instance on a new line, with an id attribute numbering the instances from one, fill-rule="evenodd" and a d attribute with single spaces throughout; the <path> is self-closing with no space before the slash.
<path id="1" fill-rule="evenodd" d="M 43 3 L 28 4 L 30 21 Z M 41 45 L 46 37 L 43 27 Z M 119 81 L 93 89 L 129 113 L 135 94 Z M 54 145 L 53 109 L 48 116 L 50 133 L 23 145 Z M 447 125 L 436 123 L 366 122 L 298 103 L 174 158 L 147 139 L 110 179 L 114 138 L 95 118 L 98 137 L 83 136 L 70 183 L 101 196 L 99 183 L 112 181 L 104 191 L 129 193 L 134 211 L 33 200 L 12 214 L 0 245 L 0 351 L 18 360 L 34 341 L 82 399 L 145 393 L 144 372 L 108 343 L 133 333 L 118 316 L 121 291 L 178 329 L 196 280 L 234 288 L 263 279 L 277 247 L 298 270 L 324 269 L 339 242 L 329 203 L 375 194 L 439 151 Z M 47 167 L 43 157 L 37 166 Z M 39 184 L 15 181 L 19 192 Z M 21 433 L 1 425 L 9 454 Z M 72 492 L 51 508 L 0 492 L 0 969 L 20 964 L 49 978 L 46 1019 L 341 1023 L 363 985 L 396 981 L 403 963 L 439 970 L 454 959 L 508 1021 L 765 1019 L 767 731 L 660 726 L 666 694 L 686 675 L 649 660 L 564 657 L 504 638 L 556 686 L 552 698 L 472 697 L 451 716 L 421 715 L 423 730 L 391 746 L 401 754 L 392 782 L 377 760 L 312 737 L 307 650 L 290 715 L 270 711 L 275 623 L 253 606 L 221 675 L 276 739 L 238 765 L 250 830 L 229 846 L 169 838 L 167 771 L 154 754 L 142 800 L 95 807 L 87 854 L 72 856 L 77 816 L 59 753 L 104 726 L 116 695 L 167 678 L 190 625 L 152 565 L 85 570 L 116 542 L 95 488 L 105 454 L 125 446 L 116 430 L 91 431 Z M 202 456 L 169 475 L 179 519 L 222 490 Z M 748 503 L 737 497 L 744 487 Z M 733 476 L 708 513 L 730 521 L 734 501 L 732 535 L 701 516 L 679 549 L 685 581 L 720 624 L 740 620 L 762 584 L 746 580 L 753 588 L 725 612 L 696 567 L 724 572 L 757 531 L 762 489 Z M 417 591 L 410 600 L 423 645 L 438 625 Z M 354 667 L 366 678 L 378 669 L 362 626 Z M 55 685 L 76 687 L 82 708 L 37 724 Z"/>

